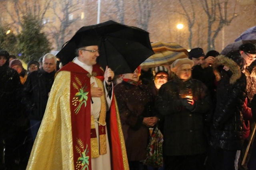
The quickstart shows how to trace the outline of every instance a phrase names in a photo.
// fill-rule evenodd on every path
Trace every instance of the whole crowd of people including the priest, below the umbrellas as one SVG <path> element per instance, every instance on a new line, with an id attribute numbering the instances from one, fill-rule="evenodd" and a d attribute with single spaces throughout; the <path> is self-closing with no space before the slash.
<path id="1" fill-rule="evenodd" d="M 120 75 L 97 64 L 94 39 L 75 53 L 26 70 L 0 51 L 1 170 L 256 169 L 254 44 Z M 151 127 L 164 137 L 161 168 L 145 164 Z"/>

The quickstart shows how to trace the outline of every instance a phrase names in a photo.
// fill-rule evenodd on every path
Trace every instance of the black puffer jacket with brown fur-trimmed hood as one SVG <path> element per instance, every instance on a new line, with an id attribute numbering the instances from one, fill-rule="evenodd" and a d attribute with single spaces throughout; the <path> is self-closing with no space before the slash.
<path id="1" fill-rule="evenodd" d="M 220 79 L 210 137 L 210 145 L 214 148 L 240 150 L 242 147 L 242 105 L 246 95 L 246 77 L 237 64 L 239 62 L 221 55 L 216 57 L 213 64 L 216 78 Z M 224 65 L 230 70 L 223 70 Z"/>

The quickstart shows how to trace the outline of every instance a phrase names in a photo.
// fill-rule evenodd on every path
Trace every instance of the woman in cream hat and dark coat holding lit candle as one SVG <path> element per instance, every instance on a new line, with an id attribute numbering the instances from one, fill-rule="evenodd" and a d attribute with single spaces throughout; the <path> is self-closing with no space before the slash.
<path id="1" fill-rule="evenodd" d="M 175 76 L 161 86 L 156 111 L 164 117 L 164 168 L 201 170 L 208 148 L 204 118 L 210 109 L 206 86 L 191 78 L 194 62 L 177 59 L 171 70 Z"/>

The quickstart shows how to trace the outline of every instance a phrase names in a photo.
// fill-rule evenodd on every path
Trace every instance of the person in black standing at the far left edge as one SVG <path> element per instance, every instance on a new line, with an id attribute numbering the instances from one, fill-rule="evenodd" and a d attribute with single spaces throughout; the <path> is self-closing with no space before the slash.
<path id="1" fill-rule="evenodd" d="M 18 72 L 9 67 L 9 53 L 0 51 L 0 149 L 3 153 L 5 143 L 5 166 L 13 169 L 17 148 L 16 121 L 20 109 L 21 84 Z M 2 159 L 2 154 L 0 155 Z M 0 162 L 2 164 L 2 162 Z"/>

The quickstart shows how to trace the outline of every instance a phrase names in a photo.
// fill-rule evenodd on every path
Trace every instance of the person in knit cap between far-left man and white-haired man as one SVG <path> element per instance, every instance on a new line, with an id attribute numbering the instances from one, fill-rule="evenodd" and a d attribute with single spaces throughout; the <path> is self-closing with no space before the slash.
<path id="1" fill-rule="evenodd" d="M 21 61 L 19 59 L 14 59 L 10 62 L 9 66 L 18 72 L 20 82 L 21 84 L 24 84 L 27 80 L 27 70 L 23 68 Z"/>

